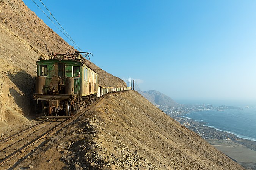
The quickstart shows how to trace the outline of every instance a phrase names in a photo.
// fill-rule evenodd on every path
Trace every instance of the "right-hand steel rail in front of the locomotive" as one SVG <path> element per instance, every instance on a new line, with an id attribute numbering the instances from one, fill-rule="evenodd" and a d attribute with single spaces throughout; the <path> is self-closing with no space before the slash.
<path id="1" fill-rule="evenodd" d="M 34 139 L 33 141 L 29 142 L 27 145 L 24 145 L 23 147 L 21 147 L 20 149 L 14 151 L 11 155 L 6 156 L 2 161 L 0 161 L 0 165 L 3 164 L 4 162 L 8 161 L 9 159 L 11 159 L 13 156 L 17 155 L 20 151 L 24 150 L 25 148 L 29 147 L 30 145 L 34 144 L 36 141 L 38 141 L 39 139 L 44 138 L 45 136 L 47 136 L 47 134 L 49 134 L 50 132 L 52 132 L 53 130 L 55 130 L 57 127 L 59 127 L 60 125 L 64 124 L 65 122 L 67 122 L 69 119 L 66 119 L 65 121 L 60 122 L 58 125 L 56 125 L 55 127 L 51 128 L 50 130 L 48 130 L 46 133 L 42 134 L 41 136 L 39 136 L 38 138 Z"/>

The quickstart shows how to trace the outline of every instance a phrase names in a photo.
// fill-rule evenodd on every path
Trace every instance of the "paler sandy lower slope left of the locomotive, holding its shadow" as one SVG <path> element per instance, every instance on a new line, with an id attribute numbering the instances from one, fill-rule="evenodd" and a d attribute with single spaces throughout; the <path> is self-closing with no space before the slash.
<path id="1" fill-rule="evenodd" d="M 14 36 L 0 25 L 0 117 L 9 120 L 9 113 L 30 114 L 31 93 L 36 75 L 35 51 L 25 40 Z M 8 113 L 8 114 L 7 114 Z M 7 117 L 6 117 L 7 116 Z"/>

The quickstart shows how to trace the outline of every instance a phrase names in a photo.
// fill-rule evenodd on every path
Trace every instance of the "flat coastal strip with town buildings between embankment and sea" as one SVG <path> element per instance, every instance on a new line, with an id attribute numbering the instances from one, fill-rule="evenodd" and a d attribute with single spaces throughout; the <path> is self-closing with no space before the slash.
<path id="1" fill-rule="evenodd" d="M 173 109 L 180 111 L 173 111 Z M 188 129 L 199 134 L 199 136 L 205 139 L 210 145 L 217 148 L 233 161 L 242 165 L 245 169 L 256 170 L 256 141 L 253 140 L 254 138 L 244 139 L 242 138 L 243 136 L 239 134 L 209 126 L 207 122 L 202 120 L 196 121 L 187 117 L 187 114 L 190 113 L 187 109 L 168 108 L 167 110 L 162 110 Z"/>

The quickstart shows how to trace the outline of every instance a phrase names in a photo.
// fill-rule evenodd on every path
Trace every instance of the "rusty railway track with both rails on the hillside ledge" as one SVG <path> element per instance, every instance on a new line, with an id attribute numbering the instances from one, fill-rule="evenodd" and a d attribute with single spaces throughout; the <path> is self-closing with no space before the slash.
<path id="1" fill-rule="evenodd" d="M 42 121 L 29 128 L 26 128 L 25 130 L 9 136 L 8 138 L 0 140 L 0 166 L 6 164 L 7 161 L 10 161 L 12 159 L 15 160 L 12 160 L 12 162 L 9 162 L 8 164 L 15 164 L 15 161 L 17 160 L 15 156 L 25 151 L 26 148 L 35 144 L 40 139 L 45 138 L 49 133 L 56 130 L 61 125 L 74 122 L 76 119 L 85 114 L 88 110 L 90 110 L 91 107 L 96 105 L 101 99 L 105 98 L 106 96 L 122 92 L 123 91 L 112 92 L 101 96 L 91 105 L 84 108 L 83 110 L 80 110 L 79 113 L 75 114 L 72 118 L 66 118 L 64 121 L 60 121 L 60 119 Z M 44 140 L 40 142 L 42 143 L 43 141 Z"/>

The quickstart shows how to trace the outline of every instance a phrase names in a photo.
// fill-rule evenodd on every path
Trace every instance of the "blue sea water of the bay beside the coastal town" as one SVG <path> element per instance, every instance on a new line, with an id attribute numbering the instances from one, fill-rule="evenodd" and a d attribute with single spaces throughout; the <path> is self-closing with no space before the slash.
<path id="1" fill-rule="evenodd" d="M 239 138 L 256 141 L 256 107 L 238 109 L 192 111 L 186 115 L 206 126 L 232 133 Z"/>

